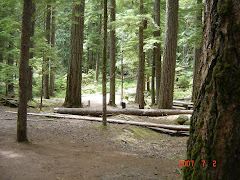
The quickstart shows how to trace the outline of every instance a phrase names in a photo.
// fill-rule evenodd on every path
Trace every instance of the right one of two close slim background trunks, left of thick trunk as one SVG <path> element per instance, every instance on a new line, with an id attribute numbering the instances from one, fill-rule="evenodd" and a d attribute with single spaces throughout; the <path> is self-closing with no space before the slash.
<path id="1" fill-rule="evenodd" d="M 55 47 L 55 8 L 52 7 L 52 28 L 51 28 L 51 46 Z M 54 96 L 54 76 L 55 76 L 55 65 L 54 58 L 51 58 L 50 66 L 50 96 Z"/>

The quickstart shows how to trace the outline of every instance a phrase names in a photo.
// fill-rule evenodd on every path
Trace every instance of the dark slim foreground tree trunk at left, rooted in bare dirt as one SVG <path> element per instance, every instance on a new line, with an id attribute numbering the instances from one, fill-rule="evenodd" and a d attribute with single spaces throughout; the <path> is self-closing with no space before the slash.
<path id="1" fill-rule="evenodd" d="M 29 63 L 31 17 L 33 3 L 31 0 L 23 1 L 22 33 L 19 63 L 19 105 L 17 119 L 17 141 L 27 141 L 27 71 Z"/>

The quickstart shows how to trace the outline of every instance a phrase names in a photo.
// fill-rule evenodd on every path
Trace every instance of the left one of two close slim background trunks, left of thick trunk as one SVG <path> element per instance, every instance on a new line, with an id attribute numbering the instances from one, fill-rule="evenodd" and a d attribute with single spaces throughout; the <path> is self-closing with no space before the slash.
<path id="1" fill-rule="evenodd" d="M 46 17 L 46 39 L 50 44 L 50 26 L 51 26 L 51 5 L 47 5 L 47 17 Z M 44 58 L 44 98 L 49 99 L 49 58 Z"/>

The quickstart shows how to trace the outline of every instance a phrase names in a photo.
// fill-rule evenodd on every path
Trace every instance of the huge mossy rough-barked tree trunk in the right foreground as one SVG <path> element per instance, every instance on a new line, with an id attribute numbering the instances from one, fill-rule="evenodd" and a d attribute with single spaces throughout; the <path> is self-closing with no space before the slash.
<path id="1" fill-rule="evenodd" d="M 206 1 L 200 86 L 183 179 L 240 177 L 240 3 Z M 205 161 L 205 165 L 203 163 Z"/>

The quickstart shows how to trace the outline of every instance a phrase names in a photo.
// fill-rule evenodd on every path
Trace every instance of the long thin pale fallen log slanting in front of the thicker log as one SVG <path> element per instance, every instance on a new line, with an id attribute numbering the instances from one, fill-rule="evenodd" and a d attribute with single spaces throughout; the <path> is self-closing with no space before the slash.
<path id="1" fill-rule="evenodd" d="M 8 113 L 17 113 L 12 111 L 6 111 Z M 27 113 L 32 116 L 45 116 L 45 117 L 54 117 L 54 118 L 66 118 L 66 119 L 78 119 L 78 120 L 86 120 L 86 121 L 97 121 L 102 122 L 102 118 L 96 117 L 86 117 L 86 116 L 77 116 L 77 115 L 64 115 L 64 114 L 56 114 L 56 113 Z M 136 122 L 136 121 L 125 121 L 125 120 L 116 120 L 116 119 L 107 119 L 108 123 L 117 123 L 117 124 L 129 124 L 136 126 L 144 126 L 144 127 L 157 127 L 175 131 L 189 131 L 189 125 L 166 125 L 166 124 L 155 124 L 148 122 Z"/>

